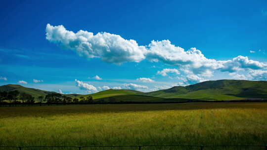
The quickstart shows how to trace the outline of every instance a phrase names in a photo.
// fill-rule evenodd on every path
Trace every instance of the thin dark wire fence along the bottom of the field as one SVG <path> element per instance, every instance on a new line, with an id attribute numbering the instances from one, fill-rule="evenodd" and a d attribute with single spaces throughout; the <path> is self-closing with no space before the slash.
<path id="1" fill-rule="evenodd" d="M 44 146 L 0 147 L 0 150 L 267 150 L 266 146 Z"/>

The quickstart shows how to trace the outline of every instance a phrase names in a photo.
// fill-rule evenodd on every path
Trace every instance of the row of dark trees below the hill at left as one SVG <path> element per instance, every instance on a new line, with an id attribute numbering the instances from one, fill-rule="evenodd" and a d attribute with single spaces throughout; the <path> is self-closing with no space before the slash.
<path id="1" fill-rule="evenodd" d="M 36 101 L 37 100 L 37 101 Z M 25 92 L 13 91 L 0 91 L 0 103 L 12 103 L 12 104 L 35 104 L 39 103 L 92 103 L 92 96 L 83 96 L 78 98 L 71 98 L 59 93 L 50 93 L 45 96 L 38 96 L 37 99 Z"/>

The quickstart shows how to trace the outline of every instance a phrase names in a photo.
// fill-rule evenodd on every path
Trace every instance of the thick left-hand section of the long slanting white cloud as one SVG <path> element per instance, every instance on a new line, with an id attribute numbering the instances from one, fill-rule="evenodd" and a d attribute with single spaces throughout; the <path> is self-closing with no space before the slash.
<path id="1" fill-rule="evenodd" d="M 80 30 L 68 31 L 64 26 L 46 25 L 46 39 L 60 46 L 75 50 L 80 56 L 100 58 L 108 63 L 140 62 L 145 58 L 145 46 L 139 46 L 133 39 L 127 40 L 119 35 Z"/>

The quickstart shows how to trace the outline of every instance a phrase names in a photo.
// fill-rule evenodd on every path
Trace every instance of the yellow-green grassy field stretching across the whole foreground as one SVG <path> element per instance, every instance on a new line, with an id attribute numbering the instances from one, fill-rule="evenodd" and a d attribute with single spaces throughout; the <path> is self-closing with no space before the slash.
<path id="1" fill-rule="evenodd" d="M 0 108 L 0 146 L 266 143 L 263 102 Z"/>

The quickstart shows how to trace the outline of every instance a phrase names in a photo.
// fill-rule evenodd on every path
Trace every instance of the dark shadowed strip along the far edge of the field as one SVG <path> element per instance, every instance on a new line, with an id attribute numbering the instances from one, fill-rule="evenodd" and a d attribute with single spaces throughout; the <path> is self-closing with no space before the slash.
<path id="1" fill-rule="evenodd" d="M 70 113 L 136 112 L 200 109 L 266 109 L 266 102 L 180 103 L 180 104 L 97 104 L 33 107 L 0 107 L 0 118 L 14 116 L 45 116 Z"/>

